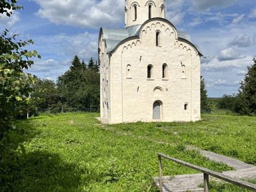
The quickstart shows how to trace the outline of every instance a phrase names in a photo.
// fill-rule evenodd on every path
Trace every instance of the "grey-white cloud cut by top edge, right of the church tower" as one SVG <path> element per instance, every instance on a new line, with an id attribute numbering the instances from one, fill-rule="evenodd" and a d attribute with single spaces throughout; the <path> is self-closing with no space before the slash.
<path id="1" fill-rule="evenodd" d="M 211 1 L 202 1 L 202 0 L 192 0 L 195 11 L 209 11 L 211 7 L 224 8 L 234 5 L 237 0 L 211 0 Z"/>

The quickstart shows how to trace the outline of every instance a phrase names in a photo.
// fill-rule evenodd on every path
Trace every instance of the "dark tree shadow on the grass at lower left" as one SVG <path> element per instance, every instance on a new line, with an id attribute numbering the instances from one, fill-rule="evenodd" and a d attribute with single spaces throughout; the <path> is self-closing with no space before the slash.
<path id="1" fill-rule="evenodd" d="M 81 172 L 56 153 L 33 151 L 19 157 L 11 185 L 13 191 L 75 191 Z"/>

